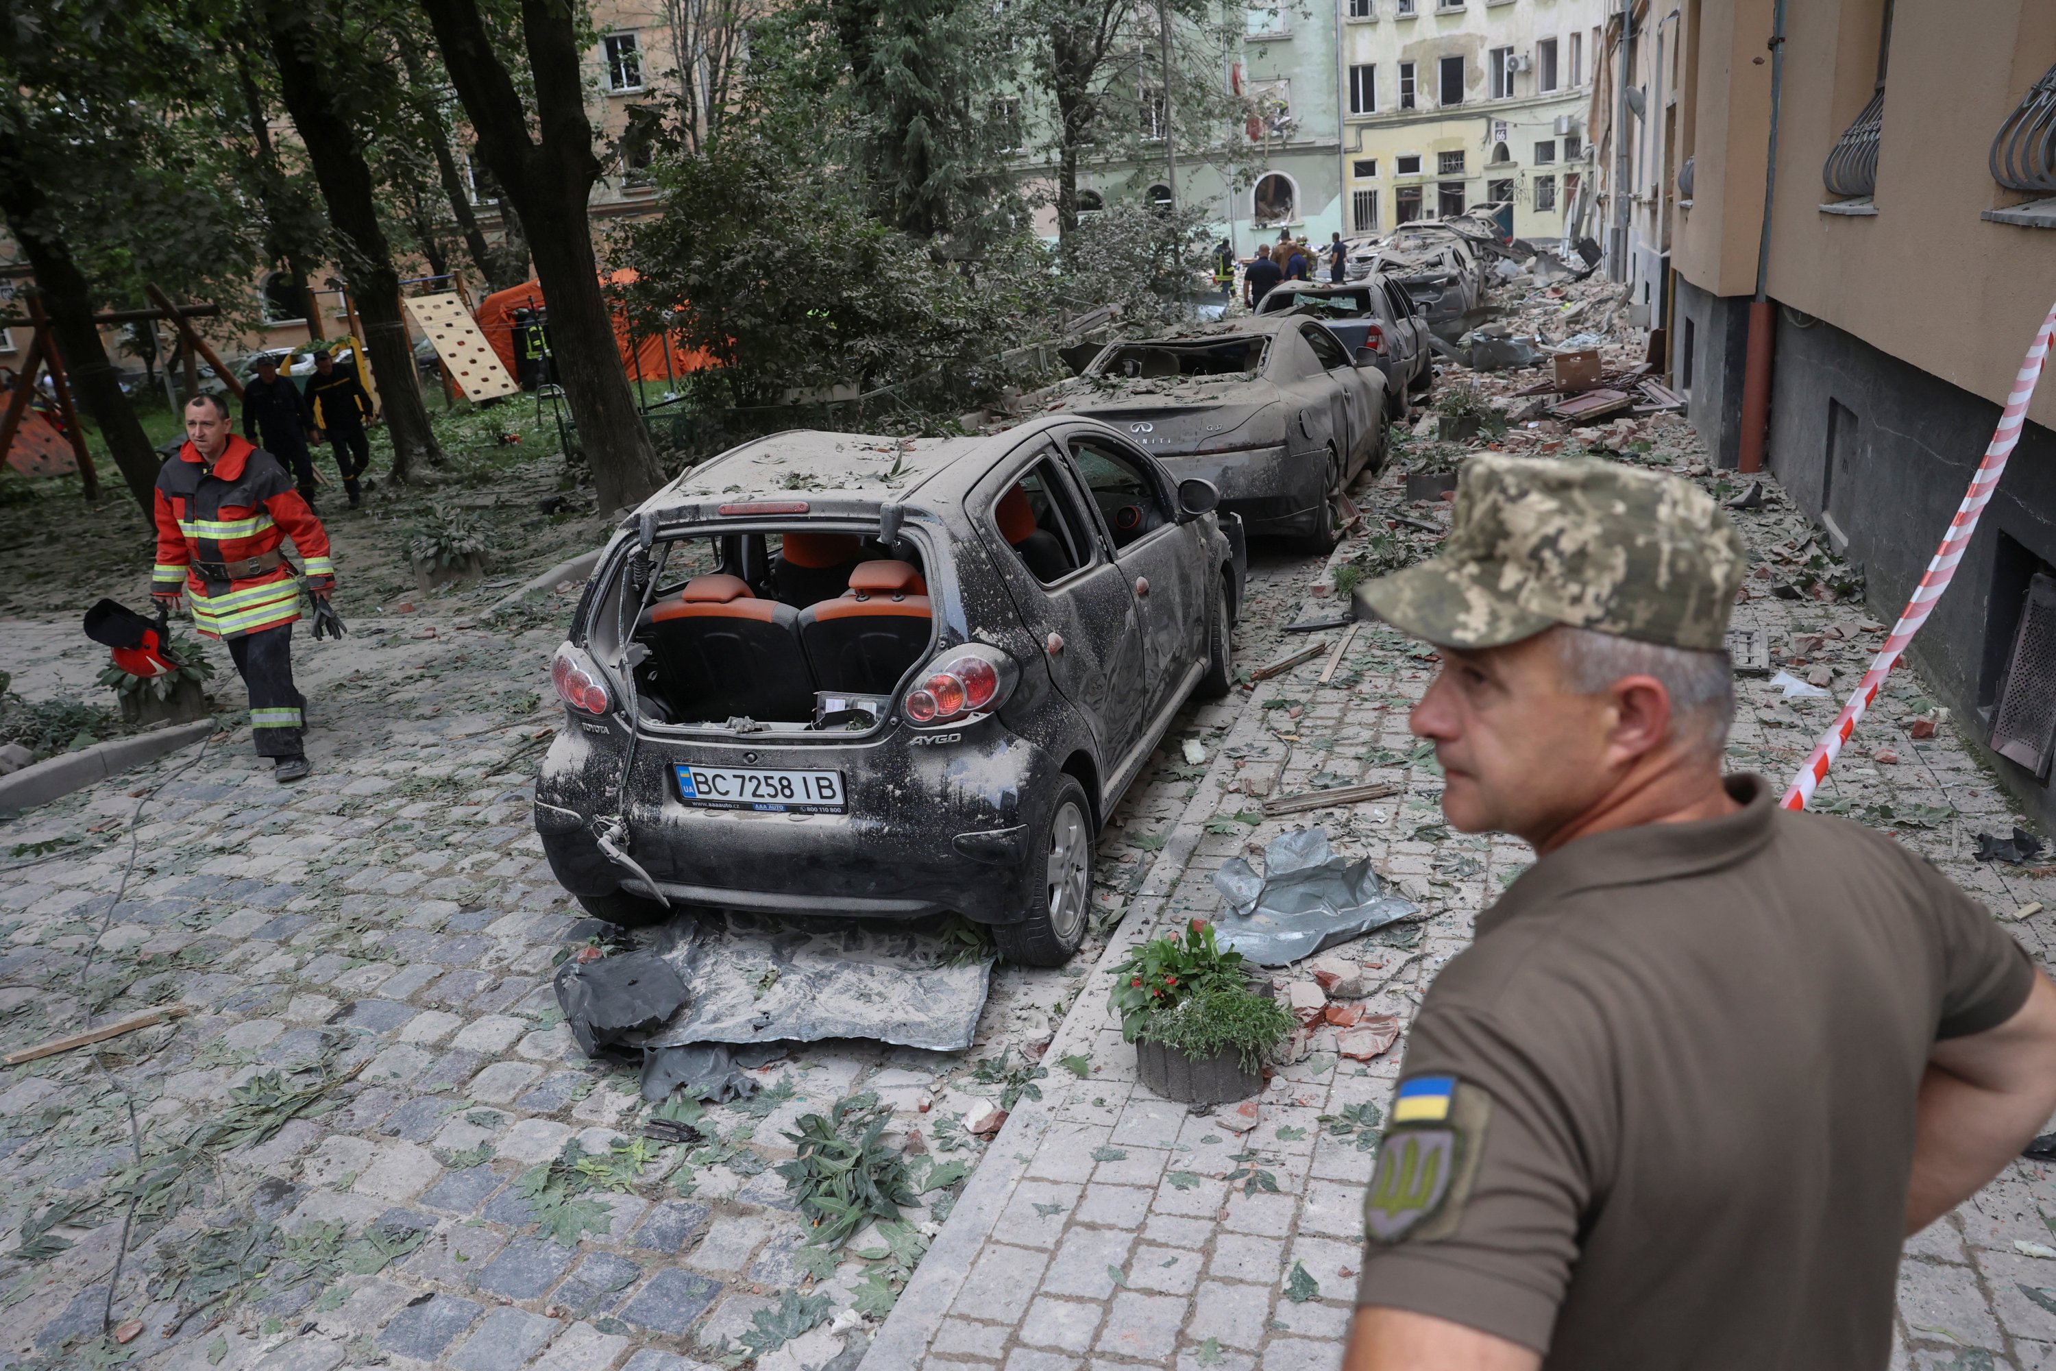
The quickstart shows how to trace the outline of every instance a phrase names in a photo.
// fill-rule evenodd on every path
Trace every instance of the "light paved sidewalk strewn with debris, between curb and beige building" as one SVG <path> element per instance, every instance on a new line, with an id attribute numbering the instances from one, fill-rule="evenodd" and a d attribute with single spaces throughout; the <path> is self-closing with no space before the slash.
<path id="1" fill-rule="evenodd" d="M 1628 434 L 1653 434 L 1635 442 Z M 1678 421 L 1612 430 L 1628 460 L 1694 471 L 1696 444 Z M 1513 444 L 1509 444 L 1513 446 Z M 1651 452 L 1653 448 L 1653 452 Z M 1371 493 L 1375 514 L 1427 516 L 1400 504 L 1396 477 Z M 1844 576 L 1832 557 L 1807 565 L 1811 526 L 1768 483 L 1762 510 L 1737 514 L 1758 565 L 1735 625 L 1768 635 L 1774 666 L 1830 684 L 1826 699 L 1783 699 L 1768 676 L 1743 678 L 1731 765 L 1789 779 L 1861 676 L 1883 627 L 1861 604 L 1776 598 L 1787 580 Z M 1361 553 L 1345 545 L 1336 561 Z M 1295 613 L 1322 613 L 1312 571 Z M 1250 664 L 1252 658 L 1244 658 Z M 1260 682 L 1172 828 L 1166 857 L 1086 980 L 1049 1059 L 1084 1054 L 1090 1075 L 1024 1104 L 999 1133 L 892 1318 L 866 1371 L 1069 1371 L 1079 1367 L 1225 1367 L 1320 1371 L 1341 1361 L 1359 1262 L 1361 1190 L 1375 1120 L 1404 1040 L 1359 1063 L 1322 1030 L 1304 1061 L 1260 1096 L 1260 1122 L 1227 1128 L 1225 1110 L 1168 1104 L 1135 1083 L 1135 1048 L 1104 1009 L 1108 966 L 1135 941 L 1213 917 L 1207 876 L 1295 824 L 1324 824 L 1338 851 L 1371 855 L 1419 898 L 1419 925 L 1382 929 L 1338 950 L 1365 966 L 1373 1013 L 1410 1020 L 1435 970 L 1460 952 L 1474 915 L 1532 859 L 1511 839 L 1454 835 L 1439 777 L 1415 746 L 1406 711 L 1425 691 L 1427 650 L 1388 629 L 1361 633 L 1330 687 L 1322 658 Z M 1926 721 L 1926 724 L 1922 724 Z M 1929 728 L 1933 724 L 1933 730 Z M 1392 800 L 1258 820 L 1250 795 L 1394 781 Z M 2056 867 L 1972 859 L 1980 830 L 2017 822 L 1953 724 L 1902 668 L 1822 787 L 1818 808 L 1887 828 L 2007 919 L 2048 962 Z M 1279 976 L 1285 978 L 1285 976 Z M 1906 1248 L 1894 1365 L 2056 1365 L 2056 1176 L 2021 1161 Z M 1690 1242 L 1680 1233 L 1678 1242 Z M 1304 1274 L 1301 1274 L 1304 1272 Z"/>

